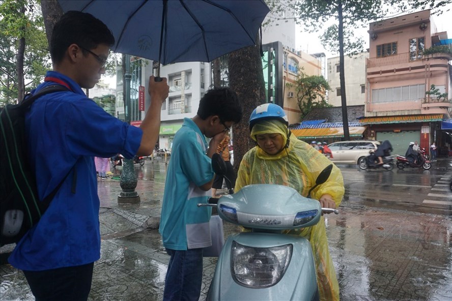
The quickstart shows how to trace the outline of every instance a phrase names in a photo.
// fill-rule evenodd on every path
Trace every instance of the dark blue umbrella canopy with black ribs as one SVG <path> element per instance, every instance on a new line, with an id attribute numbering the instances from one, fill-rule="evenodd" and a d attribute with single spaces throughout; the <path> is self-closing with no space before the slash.
<path id="1" fill-rule="evenodd" d="M 163 65 L 211 62 L 223 54 L 255 45 L 258 29 L 269 12 L 263 0 L 59 0 L 59 3 L 64 12 L 86 12 L 104 22 L 116 39 L 113 51 Z"/>

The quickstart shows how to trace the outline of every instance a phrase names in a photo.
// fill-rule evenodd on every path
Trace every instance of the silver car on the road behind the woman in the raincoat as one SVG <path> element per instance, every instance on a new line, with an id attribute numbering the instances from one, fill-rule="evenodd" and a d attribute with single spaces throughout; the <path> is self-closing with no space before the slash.
<path id="1" fill-rule="evenodd" d="M 328 145 L 331 149 L 330 160 L 336 164 L 358 164 L 363 157 L 369 156 L 371 149 L 377 149 L 380 142 L 374 140 L 338 141 Z"/>

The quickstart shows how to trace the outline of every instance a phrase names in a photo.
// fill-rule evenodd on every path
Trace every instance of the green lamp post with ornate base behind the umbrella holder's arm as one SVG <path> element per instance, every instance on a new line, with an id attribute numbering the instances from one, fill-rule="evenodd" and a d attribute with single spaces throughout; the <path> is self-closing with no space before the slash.
<path id="1" fill-rule="evenodd" d="M 131 118 L 131 102 L 130 102 L 130 55 L 125 55 L 125 73 L 124 73 L 124 117 L 125 121 L 130 125 Z M 140 202 L 140 197 L 136 193 L 135 188 L 137 184 L 135 168 L 133 167 L 133 159 L 123 160 L 123 170 L 121 172 L 121 179 L 119 181 L 122 192 L 118 195 L 118 203 L 120 204 L 135 204 Z"/>

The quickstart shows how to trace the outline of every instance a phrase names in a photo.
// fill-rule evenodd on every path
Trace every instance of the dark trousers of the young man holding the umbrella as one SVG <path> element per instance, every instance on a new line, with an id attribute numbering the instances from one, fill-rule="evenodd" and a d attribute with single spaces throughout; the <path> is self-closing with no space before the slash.
<path id="1" fill-rule="evenodd" d="M 46 270 L 24 270 L 36 301 L 86 301 L 91 290 L 94 262 Z"/>

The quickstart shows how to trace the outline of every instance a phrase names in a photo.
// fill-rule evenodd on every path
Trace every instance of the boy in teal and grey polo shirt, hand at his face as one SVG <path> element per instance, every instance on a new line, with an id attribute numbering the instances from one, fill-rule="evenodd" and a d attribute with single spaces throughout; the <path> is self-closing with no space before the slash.
<path id="1" fill-rule="evenodd" d="M 173 140 L 167 168 L 159 232 L 170 255 L 163 300 L 198 300 L 203 279 L 203 248 L 212 245 L 211 207 L 198 207 L 211 196 L 212 155 L 242 117 L 230 88 L 209 90 L 193 118 L 184 118 Z M 207 138 L 212 138 L 207 144 Z"/>

